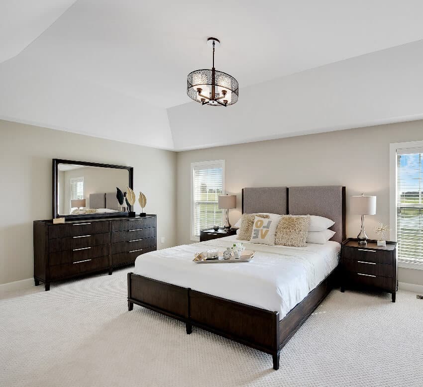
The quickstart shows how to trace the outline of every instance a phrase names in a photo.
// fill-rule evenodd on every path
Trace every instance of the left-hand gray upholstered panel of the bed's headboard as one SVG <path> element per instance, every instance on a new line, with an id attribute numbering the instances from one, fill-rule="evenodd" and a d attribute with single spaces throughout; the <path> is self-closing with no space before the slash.
<path id="1" fill-rule="evenodd" d="M 242 190 L 242 213 L 287 213 L 286 187 L 244 188 Z"/>

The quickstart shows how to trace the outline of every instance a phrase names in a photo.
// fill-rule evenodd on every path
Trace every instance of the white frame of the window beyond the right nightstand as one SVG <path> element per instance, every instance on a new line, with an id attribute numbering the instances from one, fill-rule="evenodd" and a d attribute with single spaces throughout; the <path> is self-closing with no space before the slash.
<path id="1" fill-rule="evenodd" d="M 397 154 L 399 150 L 413 153 L 413 149 L 416 149 L 415 153 L 420 153 L 417 152 L 419 148 L 423 148 L 423 141 L 395 142 L 389 144 L 389 221 L 391 227 L 389 236 L 393 241 L 397 240 Z M 399 257 L 398 267 L 423 270 L 423 264 L 405 262 Z"/>

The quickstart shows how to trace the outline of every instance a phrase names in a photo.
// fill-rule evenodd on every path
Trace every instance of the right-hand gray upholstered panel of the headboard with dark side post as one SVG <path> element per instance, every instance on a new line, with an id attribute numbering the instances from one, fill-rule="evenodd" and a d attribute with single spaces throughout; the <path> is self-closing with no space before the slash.
<path id="1" fill-rule="evenodd" d="M 342 243 L 345 231 L 345 187 L 289 187 L 289 214 L 318 215 L 332 219 L 336 234 L 331 240 Z"/>

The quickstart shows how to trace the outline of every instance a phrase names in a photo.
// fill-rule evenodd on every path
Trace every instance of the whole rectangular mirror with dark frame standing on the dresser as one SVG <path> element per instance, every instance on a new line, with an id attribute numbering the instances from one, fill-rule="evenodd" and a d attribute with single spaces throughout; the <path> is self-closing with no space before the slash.
<path id="1" fill-rule="evenodd" d="M 120 165 L 53 159 L 53 216 L 94 218 L 127 215 L 116 187 L 133 189 L 133 168 Z"/>

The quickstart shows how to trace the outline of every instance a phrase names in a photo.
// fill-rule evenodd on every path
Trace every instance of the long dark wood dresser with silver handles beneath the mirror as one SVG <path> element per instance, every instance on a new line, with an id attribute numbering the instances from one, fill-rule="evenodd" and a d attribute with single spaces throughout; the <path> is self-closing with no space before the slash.
<path id="1" fill-rule="evenodd" d="M 34 221 L 34 282 L 66 280 L 129 265 L 157 249 L 156 215 Z"/>

